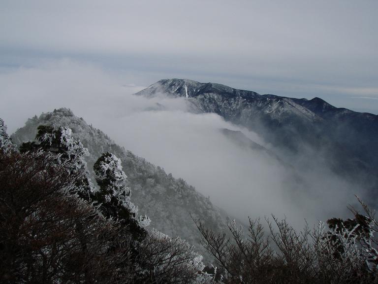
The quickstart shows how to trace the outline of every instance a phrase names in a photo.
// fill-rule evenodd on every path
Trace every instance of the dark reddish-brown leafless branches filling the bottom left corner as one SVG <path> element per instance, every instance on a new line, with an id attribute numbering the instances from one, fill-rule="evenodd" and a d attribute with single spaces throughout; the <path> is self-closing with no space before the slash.
<path id="1" fill-rule="evenodd" d="M 71 192 L 70 173 L 45 151 L 0 149 L 0 283 L 125 283 L 130 239 Z"/>

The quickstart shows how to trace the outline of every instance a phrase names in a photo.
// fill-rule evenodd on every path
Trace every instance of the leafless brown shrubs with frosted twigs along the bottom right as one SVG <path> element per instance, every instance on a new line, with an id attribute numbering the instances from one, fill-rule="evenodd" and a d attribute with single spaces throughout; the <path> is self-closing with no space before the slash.
<path id="1" fill-rule="evenodd" d="M 233 221 L 227 238 L 199 219 L 194 222 L 203 246 L 216 259 L 222 283 L 378 283 L 375 212 L 360 203 L 367 216 L 350 208 L 355 218 L 347 221 L 356 222 L 353 228 L 330 230 L 319 223 L 297 232 L 286 219 L 272 216 L 273 221 L 266 218 L 267 234 L 259 219 L 250 219 L 247 236 Z"/>

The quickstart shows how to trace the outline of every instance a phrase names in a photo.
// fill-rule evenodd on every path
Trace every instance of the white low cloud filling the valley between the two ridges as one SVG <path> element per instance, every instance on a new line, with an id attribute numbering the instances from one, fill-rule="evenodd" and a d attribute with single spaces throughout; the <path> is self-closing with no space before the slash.
<path id="1" fill-rule="evenodd" d="M 359 191 L 335 177 L 319 157 L 291 157 L 293 168 L 269 155 L 240 147 L 220 129 L 240 130 L 264 146 L 257 134 L 216 114 L 193 114 L 185 99 L 132 94 L 143 87 L 93 65 L 64 60 L 40 68 L 0 73 L 0 117 L 9 132 L 42 111 L 69 107 L 126 149 L 161 166 L 228 213 L 246 217 L 271 213 L 300 227 L 343 216 Z M 304 165 L 306 165 L 304 167 Z M 300 170 L 298 170 L 300 169 Z"/>

